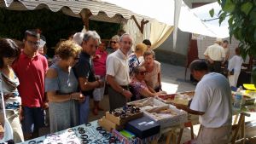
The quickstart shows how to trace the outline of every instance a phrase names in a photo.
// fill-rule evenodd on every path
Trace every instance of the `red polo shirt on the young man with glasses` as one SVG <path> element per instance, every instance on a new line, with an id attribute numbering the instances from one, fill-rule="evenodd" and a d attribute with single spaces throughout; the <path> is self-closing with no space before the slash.
<path id="1" fill-rule="evenodd" d="M 21 105 L 24 107 L 43 107 L 44 78 L 48 69 L 48 62 L 43 55 L 37 54 L 33 58 L 21 52 L 18 60 L 13 64 L 13 69 L 19 78 L 18 90 Z"/>

